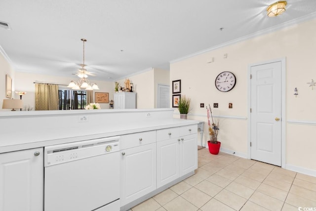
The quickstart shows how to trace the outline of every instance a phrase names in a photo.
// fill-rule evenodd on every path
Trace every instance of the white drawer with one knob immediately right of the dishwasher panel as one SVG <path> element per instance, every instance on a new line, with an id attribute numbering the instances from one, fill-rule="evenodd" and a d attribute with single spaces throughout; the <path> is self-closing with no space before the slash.
<path id="1" fill-rule="evenodd" d="M 121 135 L 120 150 L 156 142 L 156 130 Z"/>

